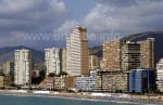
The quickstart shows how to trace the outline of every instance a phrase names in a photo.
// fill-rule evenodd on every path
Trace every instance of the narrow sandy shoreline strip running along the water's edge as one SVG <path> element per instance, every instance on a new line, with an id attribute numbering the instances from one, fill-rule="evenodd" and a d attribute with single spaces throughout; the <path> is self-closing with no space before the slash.
<path id="1" fill-rule="evenodd" d="M 127 104 L 143 104 L 143 105 L 162 105 L 163 100 L 158 102 L 156 100 L 151 99 L 150 102 L 145 99 L 145 96 L 139 99 L 139 96 L 133 95 L 133 100 L 130 100 L 128 96 L 126 97 L 120 97 L 111 95 L 111 96 L 92 96 L 88 93 L 82 94 L 82 93 L 59 93 L 51 92 L 50 94 L 41 93 L 23 93 L 23 92 L 13 92 L 11 90 L 0 90 L 0 95 L 14 95 L 14 96 L 39 96 L 39 97 L 54 97 L 54 99 L 65 99 L 65 100 L 83 100 L 83 101 L 97 101 L 97 102 L 111 102 L 111 103 L 127 103 Z M 155 96 L 153 96 L 156 99 Z"/>

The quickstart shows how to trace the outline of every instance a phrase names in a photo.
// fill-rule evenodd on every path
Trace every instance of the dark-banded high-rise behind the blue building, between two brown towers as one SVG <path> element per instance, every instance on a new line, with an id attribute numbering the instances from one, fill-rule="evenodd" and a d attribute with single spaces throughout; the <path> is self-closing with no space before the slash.
<path id="1" fill-rule="evenodd" d="M 140 67 L 140 44 L 127 42 L 122 47 L 122 70 L 129 71 Z"/>

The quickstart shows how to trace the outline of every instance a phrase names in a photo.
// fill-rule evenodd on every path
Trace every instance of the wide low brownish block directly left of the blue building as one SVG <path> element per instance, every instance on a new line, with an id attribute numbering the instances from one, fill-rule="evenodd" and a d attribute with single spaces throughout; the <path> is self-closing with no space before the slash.
<path id="1" fill-rule="evenodd" d="M 97 91 L 128 92 L 128 74 L 118 71 L 98 71 Z"/>

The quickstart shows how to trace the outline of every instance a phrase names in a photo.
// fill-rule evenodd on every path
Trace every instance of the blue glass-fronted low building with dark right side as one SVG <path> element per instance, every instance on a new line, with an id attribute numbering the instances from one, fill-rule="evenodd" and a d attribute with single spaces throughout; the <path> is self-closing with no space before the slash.
<path id="1" fill-rule="evenodd" d="M 149 93 L 154 89 L 154 70 L 148 68 L 137 68 L 129 71 L 129 92 Z"/>

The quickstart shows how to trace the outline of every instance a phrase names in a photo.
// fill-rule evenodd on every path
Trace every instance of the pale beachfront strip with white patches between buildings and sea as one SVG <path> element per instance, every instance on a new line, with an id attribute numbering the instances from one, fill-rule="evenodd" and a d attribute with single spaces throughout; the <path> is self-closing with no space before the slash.
<path id="1" fill-rule="evenodd" d="M 47 96 L 74 100 L 92 100 L 108 102 L 129 102 L 146 104 L 163 104 L 163 95 L 129 95 L 123 93 L 65 93 L 52 91 L 24 91 L 24 90 L 0 90 L 0 94 L 22 95 L 22 96 Z"/>

